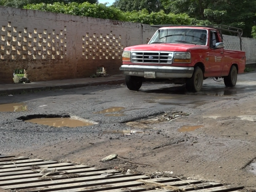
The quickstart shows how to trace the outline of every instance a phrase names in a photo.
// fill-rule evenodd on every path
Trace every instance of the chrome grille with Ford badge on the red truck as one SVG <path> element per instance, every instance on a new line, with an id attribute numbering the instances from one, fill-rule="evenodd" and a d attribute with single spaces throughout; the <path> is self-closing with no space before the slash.
<path id="1" fill-rule="evenodd" d="M 132 63 L 172 64 L 173 52 L 132 52 Z"/>

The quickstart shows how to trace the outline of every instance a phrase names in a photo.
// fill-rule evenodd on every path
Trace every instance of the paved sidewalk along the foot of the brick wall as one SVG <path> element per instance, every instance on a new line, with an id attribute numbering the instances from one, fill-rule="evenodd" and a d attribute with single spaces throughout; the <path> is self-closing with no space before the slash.
<path id="1" fill-rule="evenodd" d="M 76 87 L 95 86 L 102 84 L 123 84 L 124 75 L 113 75 L 99 78 L 65 79 L 40 81 L 28 84 L 0 84 L 0 95 L 21 94 L 26 92 L 44 91 L 51 89 L 71 89 Z"/>

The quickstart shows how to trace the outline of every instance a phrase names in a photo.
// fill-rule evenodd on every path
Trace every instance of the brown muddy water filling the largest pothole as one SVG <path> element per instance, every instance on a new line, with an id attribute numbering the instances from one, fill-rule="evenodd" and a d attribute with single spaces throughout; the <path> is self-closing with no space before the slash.
<path id="1" fill-rule="evenodd" d="M 66 118 L 38 118 L 30 119 L 25 122 L 48 125 L 52 127 L 83 127 L 94 125 L 92 122 L 82 121 L 71 117 Z"/>

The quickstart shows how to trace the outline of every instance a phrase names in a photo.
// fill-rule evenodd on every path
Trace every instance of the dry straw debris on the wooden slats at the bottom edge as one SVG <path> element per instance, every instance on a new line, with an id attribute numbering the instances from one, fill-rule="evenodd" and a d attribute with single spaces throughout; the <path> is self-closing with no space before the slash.
<path id="1" fill-rule="evenodd" d="M 143 183 L 144 186 L 147 190 L 149 189 L 165 189 L 165 190 L 170 190 L 170 191 L 175 191 L 175 192 L 182 192 L 185 191 L 184 189 L 175 187 L 175 186 L 171 186 L 171 185 L 165 185 L 163 183 L 157 183 L 154 181 L 146 181 L 143 179 L 137 180 L 140 183 Z"/>

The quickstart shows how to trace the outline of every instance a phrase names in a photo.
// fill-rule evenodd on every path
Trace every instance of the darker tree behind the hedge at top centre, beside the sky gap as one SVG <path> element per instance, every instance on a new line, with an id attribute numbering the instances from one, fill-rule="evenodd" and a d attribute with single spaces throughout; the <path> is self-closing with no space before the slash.
<path id="1" fill-rule="evenodd" d="M 146 9 L 151 13 L 159 12 L 163 9 L 160 0 L 115 0 L 112 6 L 124 12 L 141 11 L 142 9 Z"/>

